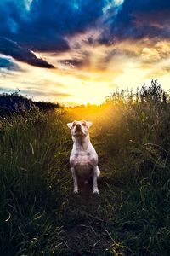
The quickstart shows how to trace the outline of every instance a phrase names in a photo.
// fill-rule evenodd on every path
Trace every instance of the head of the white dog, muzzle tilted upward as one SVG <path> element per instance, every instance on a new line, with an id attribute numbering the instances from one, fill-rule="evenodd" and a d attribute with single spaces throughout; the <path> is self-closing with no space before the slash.
<path id="1" fill-rule="evenodd" d="M 68 123 L 67 126 L 71 129 L 71 135 L 73 137 L 81 137 L 88 135 L 88 128 L 92 126 L 92 122 L 74 121 L 72 123 Z"/>

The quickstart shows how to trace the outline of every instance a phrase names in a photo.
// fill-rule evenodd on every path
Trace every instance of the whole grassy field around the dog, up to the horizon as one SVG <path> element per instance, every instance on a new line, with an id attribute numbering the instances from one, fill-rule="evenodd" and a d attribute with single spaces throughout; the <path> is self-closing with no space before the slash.
<path id="1" fill-rule="evenodd" d="M 99 195 L 72 193 L 73 119 L 94 122 Z M 169 132 L 169 103 L 150 97 L 2 118 L 0 255 L 169 255 Z"/>

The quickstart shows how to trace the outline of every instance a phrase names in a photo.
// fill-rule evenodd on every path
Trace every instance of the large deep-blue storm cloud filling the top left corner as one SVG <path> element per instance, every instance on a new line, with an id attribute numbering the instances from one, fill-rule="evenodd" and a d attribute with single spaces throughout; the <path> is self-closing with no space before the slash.
<path id="1" fill-rule="evenodd" d="M 3 0 L 1 36 L 40 51 L 67 50 L 65 36 L 83 32 L 102 15 L 105 0 Z"/>

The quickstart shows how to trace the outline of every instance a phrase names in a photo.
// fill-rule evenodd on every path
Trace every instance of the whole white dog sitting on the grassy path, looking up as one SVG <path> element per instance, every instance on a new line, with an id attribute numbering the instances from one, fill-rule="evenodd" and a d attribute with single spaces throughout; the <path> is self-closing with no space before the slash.
<path id="1" fill-rule="evenodd" d="M 68 123 L 73 140 L 73 148 L 70 156 L 71 172 L 74 183 L 74 193 L 78 193 L 78 177 L 82 177 L 88 183 L 90 177 L 93 178 L 93 190 L 99 194 L 97 178 L 100 171 L 98 167 L 98 154 L 90 142 L 88 129 L 92 122 L 74 121 Z"/>

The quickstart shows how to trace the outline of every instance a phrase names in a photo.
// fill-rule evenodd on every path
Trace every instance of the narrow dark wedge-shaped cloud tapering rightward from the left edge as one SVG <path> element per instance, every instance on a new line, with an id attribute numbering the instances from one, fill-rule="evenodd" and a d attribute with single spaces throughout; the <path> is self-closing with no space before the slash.
<path id="1" fill-rule="evenodd" d="M 26 62 L 32 66 L 54 68 L 47 61 L 37 58 L 29 49 L 26 49 L 8 38 L 0 38 L 0 53 L 10 55 L 17 61 Z"/>

